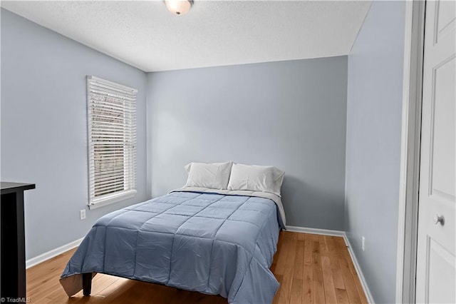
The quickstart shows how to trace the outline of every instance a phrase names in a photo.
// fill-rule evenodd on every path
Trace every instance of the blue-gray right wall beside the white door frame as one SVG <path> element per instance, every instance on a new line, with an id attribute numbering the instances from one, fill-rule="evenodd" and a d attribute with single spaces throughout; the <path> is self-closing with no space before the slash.
<path id="1" fill-rule="evenodd" d="M 345 230 L 375 303 L 395 303 L 404 24 L 373 1 L 348 56 Z"/>

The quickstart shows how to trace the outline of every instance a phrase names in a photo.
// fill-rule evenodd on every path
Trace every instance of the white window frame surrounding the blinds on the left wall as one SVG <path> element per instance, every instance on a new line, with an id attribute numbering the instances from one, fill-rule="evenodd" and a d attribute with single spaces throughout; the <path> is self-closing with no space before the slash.
<path id="1" fill-rule="evenodd" d="M 95 196 L 95 141 L 93 141 L 93 122 L 94 117 L 91 111 L 93 106 L 93 101 L 90 94 L 90 88 L 93 84 L 99 83 L 102 86 L 110 86 L 116 90 L 123 91 L 126 94 L 133 94 L 133 100 L 130 101 L 133 103 L 133 111 L 129 113 L 131 123 L 123 124 L 123 134 L 124 136 L 129 137 L 130 143 L 127 144 L 126 141 L 123 141 L 123 188 L 122 191 L 114 191 L 113 193 L 106 193 L 100 197 Z M 115 83 L 113 81 L 108 81 L 103 78 L 98 78 L 96 76 L 87 76 L 86 77 L 86 89 L 87 89 L 87 142 L 88 142 L 88 208 L 95 209 L 103 206 L 110 205 L 112 203 L 117 203 L 119 201 L 124 201 L 128 198 L 133 198 L 136 194 L 136 94 L 138 90 L 136 88 L 130 88 L 129 86 L 123 86 L 120 83 Z M 98 88 L 99 89 L 99 88 Z M 108 92 L 107 92 L 108 95 Z M 125 111 L 126 106 L 123 106 Z M 126 112 L 125 112 L 126 113 Z M 133 131 L 126 131 L 125 129 L 133 128 Z M 128 156 L 125 156 L 128 154 Z M 91 168 L 92 167 L 92 168 Z M 125 182 L 126 181 L 126 182 Z M 125 183 L 127 183 L 125 185 Z M 125 186 L 128 188 L 125 190 Z"/>

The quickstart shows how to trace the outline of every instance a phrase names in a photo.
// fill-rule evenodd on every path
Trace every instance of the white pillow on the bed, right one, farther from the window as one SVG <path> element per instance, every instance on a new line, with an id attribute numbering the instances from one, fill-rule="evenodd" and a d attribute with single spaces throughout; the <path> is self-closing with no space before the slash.
<path id="1" fill-rule="evenodd" d="M 284 171 L 271 166 L 247 166 L 234 163 L 228 190 L 248 190 L 274 193 L 280 196 Z"/>

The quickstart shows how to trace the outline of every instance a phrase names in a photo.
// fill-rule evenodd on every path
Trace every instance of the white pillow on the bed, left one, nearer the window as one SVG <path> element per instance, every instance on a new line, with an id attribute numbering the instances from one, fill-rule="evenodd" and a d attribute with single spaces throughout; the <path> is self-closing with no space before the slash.
<path id="1" fill-rule="evenodd" d="M 226 189 L 233 163 L 189 163 L 187 187 Z"/>

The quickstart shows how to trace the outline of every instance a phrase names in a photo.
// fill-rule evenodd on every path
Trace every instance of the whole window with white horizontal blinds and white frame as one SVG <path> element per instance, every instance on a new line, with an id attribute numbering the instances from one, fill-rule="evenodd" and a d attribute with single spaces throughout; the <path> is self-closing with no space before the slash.
<path id="1" fill-rule="evenodd" d="M 137 92 L 87 76 L 90 208 L 135 196 Z"/>

